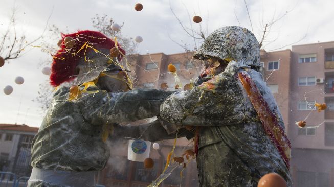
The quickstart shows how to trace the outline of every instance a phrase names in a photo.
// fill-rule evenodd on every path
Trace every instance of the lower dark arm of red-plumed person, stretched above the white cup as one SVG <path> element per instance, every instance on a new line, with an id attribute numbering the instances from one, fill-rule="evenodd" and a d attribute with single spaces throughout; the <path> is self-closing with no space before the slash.
<path id="1" fill-rule="evenodd" d="M 168 122 L 166 122 L 168 123 Z M 169 124 L 171 125 L 171 124 Z M 181 127 L 177 137 L 187 137 L 188 139 L 194 136 L 193 132 Z M 155 120 L 150 123 L 141 124 L 139 126 L 123 126 L 114 124 L 113 134 L 110 136 L 112 139 L 143 139 L 145 141 L 156 142 L 164 139 L 174 139 L 176 137 L 176 131 L 168 133 L 162 126 L 160 120 Z"/>

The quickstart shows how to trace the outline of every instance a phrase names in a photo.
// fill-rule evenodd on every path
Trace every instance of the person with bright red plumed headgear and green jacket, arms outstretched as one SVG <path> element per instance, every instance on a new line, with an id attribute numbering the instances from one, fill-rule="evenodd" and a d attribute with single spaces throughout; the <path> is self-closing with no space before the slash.
<path id="1" fill-rule="evenodd" d="M 62 34 L 62 40 L 53 55 L 51 85 L 75 77 L 77 82 L 54 93 L 33 139 L 28 186 L 95 186 L 95 171 L 102 170 L 109 158 L 108 135 L 114 127 L 118 138 L 129 135 L 124 131 L 129 127 L 115 123 L 159 116 L 161 103 L 172 93 L 131 90 L 128 70 L 121 65 L 125 51 L 100 32 Z M 112 48 L 117 48 L 117 55 L 110 52 Z M 147 125 L 164 131 L 160 121 L 152 124 L 128 133 L 141 134 Z"/>

